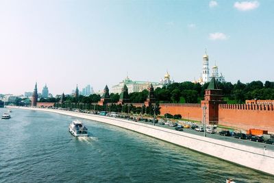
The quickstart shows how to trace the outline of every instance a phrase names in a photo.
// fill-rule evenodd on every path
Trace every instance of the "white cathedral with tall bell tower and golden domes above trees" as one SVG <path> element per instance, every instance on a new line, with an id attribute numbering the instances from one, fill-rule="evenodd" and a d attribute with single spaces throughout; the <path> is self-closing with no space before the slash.
<path id="1" fill-rule="evenodd" d="M 208 54 L 206 53 L 203 56 L 203 73 L 198 80 L 195 80 L 194 83 L 205 84 L 206 82 L 210 82 L 212 77 L 215 77 L 217 82 L 225 82 L 225 77 L 223 77 L 222 73 L 219 75 L 218 66 L 215 65 L 212 67 L 212 74 L 210 75 L 210 66 L 208 61 Z"/>

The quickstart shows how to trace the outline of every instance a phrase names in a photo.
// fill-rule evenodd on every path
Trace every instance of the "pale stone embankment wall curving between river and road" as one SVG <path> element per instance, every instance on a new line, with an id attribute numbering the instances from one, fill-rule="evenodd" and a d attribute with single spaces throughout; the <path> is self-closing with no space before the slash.
<path id="1" fill-rule="evenodd" d="M 12 107 L 18 108 L 18 107 Z M 195 134 L 188 134 L 186 132 L 177 132 L 163 127 L 147 125 L 134 121 L 127 121 L 123 119 L 115 119 L 112 117 L 103 117 L 94 114 L 83 114 L 79 112 L 69 112 L 64 110 L 51 110 L 42 108 L 21 108 L 25 110 L 40 110 L 45 112 L 55 112 L 58 114 L 79 117 L 82 119 L 90 119 L 110 125 L 123 127 L 127 130 L 132 130 L 147 136 L 158 138 L 162 141 L 173 143 L 188 149 L 199 151 L 203 154 L 208 154 L 216 158 L 227 160 L 244 167 L 249 167 L 257 171 L 269 173 L 274 175 L 274 151 L 269 149 L 261 149 L 250 147 L 247 145 L 240 145 L 236 143 L 229 143 L 226 141 L 216 140 Z"/>

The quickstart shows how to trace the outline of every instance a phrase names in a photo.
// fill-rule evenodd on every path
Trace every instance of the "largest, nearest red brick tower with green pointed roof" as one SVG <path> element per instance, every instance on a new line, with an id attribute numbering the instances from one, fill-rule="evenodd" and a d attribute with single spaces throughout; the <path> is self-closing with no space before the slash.
<path id="1" fill-rule="evenodd" d="M 201 101 L 201 107 L 206 107 L 206 123 L 218 124 L 219 122 L 219 104 L 226 103 L 223 101 L 223 90 L 219 89 L 212 77 L 208 89 L 206 89 L 205 99 Z"/>

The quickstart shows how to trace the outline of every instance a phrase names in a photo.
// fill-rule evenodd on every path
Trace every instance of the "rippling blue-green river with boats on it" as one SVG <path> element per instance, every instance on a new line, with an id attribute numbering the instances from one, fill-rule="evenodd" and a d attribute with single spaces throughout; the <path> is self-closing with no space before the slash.
<path id="1" fill-rule="evenodd" d="M 0 182 L 274 182 L 271 175 L 120 127 L 82 120 L 90 136 L 75 138 L 68 131 L 74 117 L 10 114 L 0 121 Z"/>

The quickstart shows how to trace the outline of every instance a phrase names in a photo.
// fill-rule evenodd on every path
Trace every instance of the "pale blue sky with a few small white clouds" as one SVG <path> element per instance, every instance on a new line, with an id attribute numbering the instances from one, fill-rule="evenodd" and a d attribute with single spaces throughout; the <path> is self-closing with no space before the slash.
<path id="1" fill-rule="evenodd" d="M 273 81 L 274 3 L 0 0 L 0 93 L 198 79 L 207 49 L 227 82 Z M 212 69 L 210 69 L 210 72 Z"/>

